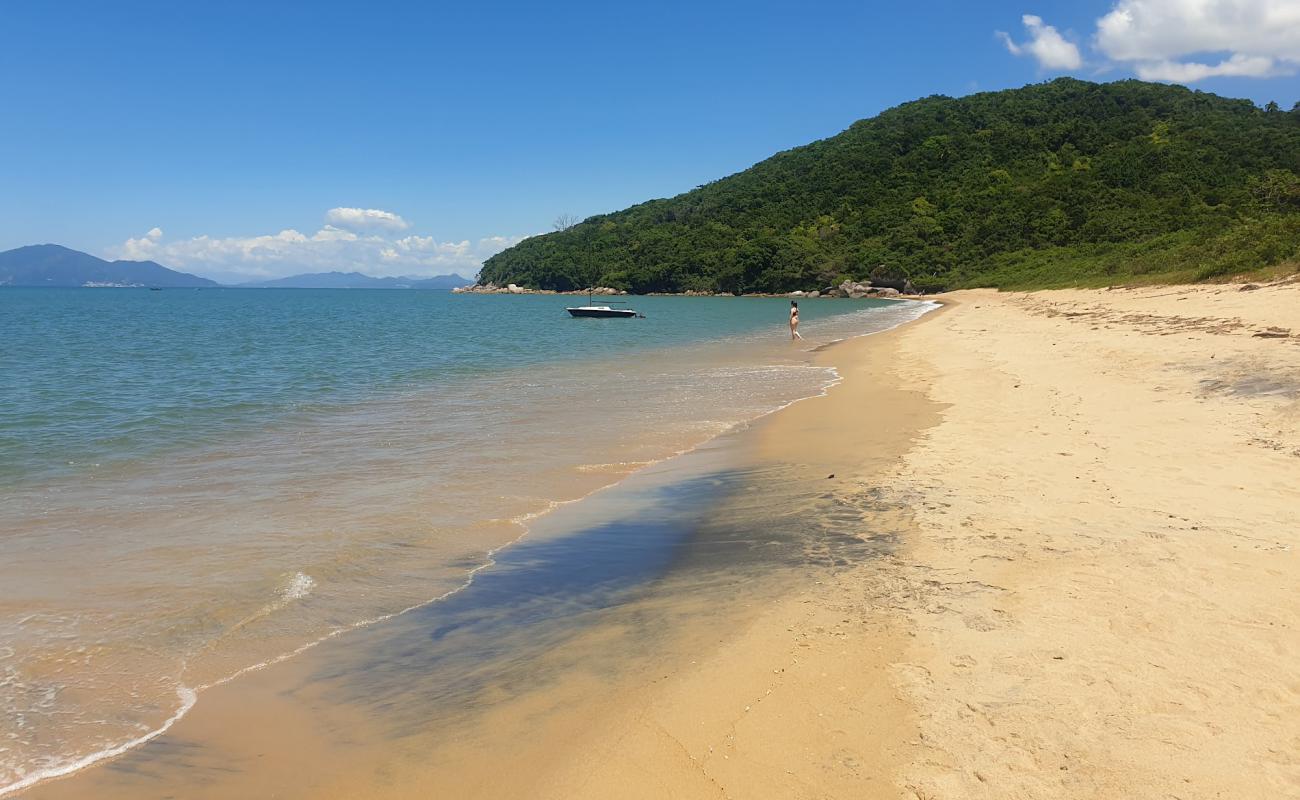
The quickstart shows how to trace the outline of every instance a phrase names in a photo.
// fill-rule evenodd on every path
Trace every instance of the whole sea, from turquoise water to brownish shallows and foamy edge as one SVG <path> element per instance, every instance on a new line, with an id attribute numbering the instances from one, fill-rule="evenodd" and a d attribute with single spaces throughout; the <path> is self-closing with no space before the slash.
<path id="1" fill-rule="evenodd" d="M 930 303 L 0 290 L 0 795 L 455 597 L 530 526 L 826 392 Z M 569 553 L 569 550 L 566 550 Z M 566 555 L 568 558 L 568 555 Z"/>

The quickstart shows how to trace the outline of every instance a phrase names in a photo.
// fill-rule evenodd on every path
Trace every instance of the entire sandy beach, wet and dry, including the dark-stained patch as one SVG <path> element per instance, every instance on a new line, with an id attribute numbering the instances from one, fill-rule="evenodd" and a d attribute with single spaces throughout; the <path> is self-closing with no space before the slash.
<path id="1" fill-rule="evenodd" d="M 949 300 L 27 796 L 1300 795 L 1300 285 Z"/>

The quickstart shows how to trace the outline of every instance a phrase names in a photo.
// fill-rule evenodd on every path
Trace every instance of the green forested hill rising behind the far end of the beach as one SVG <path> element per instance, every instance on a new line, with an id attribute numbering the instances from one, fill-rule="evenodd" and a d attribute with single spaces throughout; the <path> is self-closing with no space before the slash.
<path id="1" fill-rule="evenodd" d="M 1206 280 L 1300 258 L 1300 104 L 1061 78 L 926 98 L 486 261 L 541 289 Z"/>

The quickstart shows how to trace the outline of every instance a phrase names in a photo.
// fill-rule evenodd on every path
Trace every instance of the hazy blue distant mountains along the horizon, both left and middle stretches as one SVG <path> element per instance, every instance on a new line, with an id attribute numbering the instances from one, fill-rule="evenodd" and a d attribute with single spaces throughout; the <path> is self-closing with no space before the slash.
<path id="1" fill-rule="evenodd" d="M 432 289 L 450 291 L 473 284 L 459 274 L 430 278 L 376 278 L 360 272 L 315 272 L 273 281 L 239 284 L 247 289 Z M 220 286 L 216 281 L 168 269 L 153 261 L 105 261 L 60 245 L 31 245 L 0 252 L 0 286 Z"/>

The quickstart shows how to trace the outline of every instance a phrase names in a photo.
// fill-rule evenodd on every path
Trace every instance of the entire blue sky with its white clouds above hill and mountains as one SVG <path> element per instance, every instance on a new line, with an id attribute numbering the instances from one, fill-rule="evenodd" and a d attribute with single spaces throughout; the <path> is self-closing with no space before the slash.
<path id="1" fill-rule="evenodd" d="M 1290 109 L 1297 73 L 1300 0 L 14 0 L 0 250 L 472 276 L 919 96 L 1139 77 Z"/>

